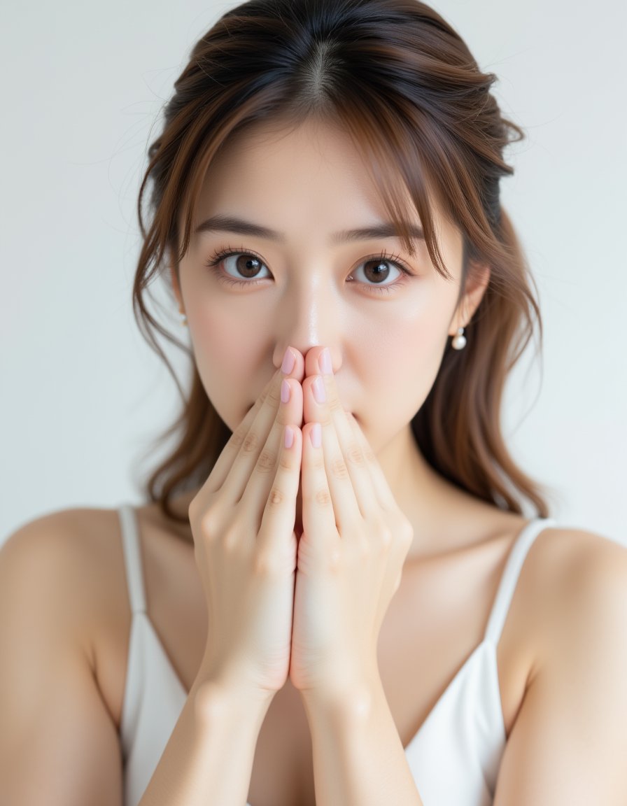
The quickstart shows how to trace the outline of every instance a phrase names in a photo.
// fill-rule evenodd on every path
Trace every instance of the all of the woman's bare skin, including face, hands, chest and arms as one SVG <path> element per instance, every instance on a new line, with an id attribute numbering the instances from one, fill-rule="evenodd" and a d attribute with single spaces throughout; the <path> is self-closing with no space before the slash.
<path id="1" fill-rule="evenodd" d="M 383 219 L 367 176 L 328 128 L 234 141 L 197 221 L 238 214 L 285 241 L 204 234 L 172 272 L 201 380 L 234 430 L 177 502 L 193 550 L 155 506 L 137 510 L 148 615 L 189 688 L 142 806 L 421 806 L 405 743 L 477 646 L 524 523 L 438 479 L 411 438 L 446 335 L 483 289 L 458 304 L 461 239 L 437 210 L 451 282 L 420 247 L 332 245 Z M 218 284 L 205 263 L 225 245 L 262 256 L 260 285 Z M 359 267 L 382 248 L 417 278 L 376 295 Z M 2 547 L 7 802 L 121 802 L 131 622 L 118 531 L 114 510 L 69 510 Z M 558 529 L 529 550 L 497 647 L 495 806 L 625 802 L 626 555 Z"/>

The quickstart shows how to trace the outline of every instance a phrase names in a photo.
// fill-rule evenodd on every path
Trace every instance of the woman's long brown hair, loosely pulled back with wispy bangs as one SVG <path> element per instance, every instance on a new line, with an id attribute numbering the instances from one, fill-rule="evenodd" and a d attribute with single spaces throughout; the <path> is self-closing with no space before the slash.
<path id="1" fill-rule="evenodd" d="M 149 149 L 138 204 L 143 247 L 135 318 L 184 401 L 160 438 L 176 436 L 176 447 L 146 484 L 164 514 L 181 520 L 171 497 L 204 483 L 230 430 L 194 365 L 189 394 L 181 389 L 153 330 L 189 349 L 152 317 L 143 294 L 168 260 L 177 270 L 185 255 L 193 209 L 222 144 L 255 123 L 289 119 L 296 125 L 316 116 L 355 140 L 412 251 L 402 195 L 409 191 L 431 259 L 449 276 L 428 201 L 437 197 L 463 234 L 460 298 L 472 272 L 490 268 L 488 288 L 467 324 L 466 349 L 447 344 L 434 386 L 411 423 L 422 455 L 484 501 L 521 513 L 527 499 L 546 516 L 541 488 L 514 463 L 500 430 L 506 377 L 536 326 L 542 343 L 542 322 L 534 282 L 500 208 L 500 178 L 512 172 L 503 151 L 522 135 L 501 116 L 490 93 L 494 81 L 480 72 L 459 35 L 415 0 L 251 0 L 223 15 L 196 44 L 165 107 L 163 133 Z"/>

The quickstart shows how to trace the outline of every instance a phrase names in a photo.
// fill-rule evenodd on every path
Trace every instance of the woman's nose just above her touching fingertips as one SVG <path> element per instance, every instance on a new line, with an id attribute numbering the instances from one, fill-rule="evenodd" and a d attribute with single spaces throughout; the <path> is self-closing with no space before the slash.
<path id="1" fill-rule="evenodd" d="M 341 296 L 330 280 L 309 275 L 285 290 L 276 311 L 273 361 L 279 368 L 288 347 L 306 357 L 312 347 L 328 347 L 333 372 L 342 366 Z"/>

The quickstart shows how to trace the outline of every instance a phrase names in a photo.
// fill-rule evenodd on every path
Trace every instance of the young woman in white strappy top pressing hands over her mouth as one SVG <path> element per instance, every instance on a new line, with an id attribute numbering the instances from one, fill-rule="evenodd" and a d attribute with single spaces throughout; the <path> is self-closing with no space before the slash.
<path id="1" fill-rule="evenodd" d="M 196 45 L 134 289 L 189 327 L 179 441 L 146 505 L 2 549 L 2 802 L 625 803 L 625 549 L 500 433 L 540 320 L 493 78 L 415 0 Z"/>

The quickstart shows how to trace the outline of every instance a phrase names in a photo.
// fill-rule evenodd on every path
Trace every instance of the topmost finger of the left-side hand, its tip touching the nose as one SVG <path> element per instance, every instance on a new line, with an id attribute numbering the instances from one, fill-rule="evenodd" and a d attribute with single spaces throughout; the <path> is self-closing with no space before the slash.
<path id="1" fill-rule="evenodd" d="M 293 355 L 293 368 L 289 372 L 283 372 L 283 368 L 288 368 L 284 359 L 281 369 L 268 381 L 264 391 L 255 401 L 255 405 L 231 434 L 206 482 L 209 492 L 215 492 L 228 485 L 227 494 L 231 499 L 239 501 L 251 469 L 255 466 L 276 417 L 276 411 L 280 405 L 281 381 L 284 378 L 301 376 L 303 370 L 304 360 L 300 351 L 289 347 L 286 355 L 288 353 Z M 235 472 L 231 476 L 236 460 L 247 465 L 248 476 L 245 475 L 245 472 L 241 472 L 241 467 L 235 468 Z"/>

